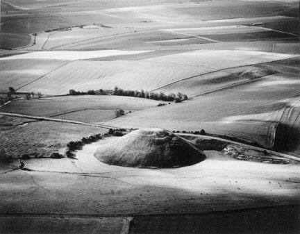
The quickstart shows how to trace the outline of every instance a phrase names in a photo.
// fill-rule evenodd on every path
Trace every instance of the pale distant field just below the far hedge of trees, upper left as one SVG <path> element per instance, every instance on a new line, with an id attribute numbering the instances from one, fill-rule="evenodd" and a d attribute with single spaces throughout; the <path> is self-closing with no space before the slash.
<path id="1" fill-rule="evenodd" d="M 171 33 L 160 31 L 139 31 L 134 32 L 134 28 L 78 28 L 72 31 L 55 31 L 48 33 L 45 49 L 126 49 L 137 47 L 147 48 L 145 42 L 152 40 L 168 40 L 175 37 Z"/>

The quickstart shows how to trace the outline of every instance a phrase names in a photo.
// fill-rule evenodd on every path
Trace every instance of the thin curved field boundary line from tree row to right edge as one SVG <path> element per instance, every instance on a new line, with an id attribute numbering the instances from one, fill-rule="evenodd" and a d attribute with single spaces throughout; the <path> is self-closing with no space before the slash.
<path id="1" fill-rule="evenodd" d="M 194 75 L 194 76 L 188 76 L 188 77 L 180 78 L 180 79 L 178 79 L 178 80 L 176 80 L 176 81 L 172 81 L 172 82 L 170 82 L 170 83 L 167 83 L 167 84 L 164 84 L 164 85 L 160 85 L 160 86 L 158 86 L 158 87 L 155 87 L 155 88 L 149 90 L 149 92 L 153 92 L 153 91 L 155 91 L 155 90 L 159 90 L 159 89 L 162 88 L 162 87 L 167 87 L 167 86 L 169 86 L 169 85 L 173 85 L 174 83 L 178 83 L 178 82 L 181 82 L 181 81 L 185 81 L 185 80 L 188 80 L 188 79 L 190 79 L 190 78 L 195 78 L 195 77 L 197 77 L 197 76 L 205 76 L 205 75 L 208 75 L 208 74 L 213 74 L 213 73 L 215 73 L 215 72 L 224 72 L 224 71 L 227 70 L 227 69 L 234 69 L 234 68 L 240 68 L 240 67 L 251 67 L 251 66 L 254 66 L 254 65 L 263 65 L 263 64 L 268 64 L 268 63 L 278 62 L 278 61 L 283 61 L 283 60 L 289 60 L 289 59 L 291 59 L 291 58 L 299 58 L 299 57 L 300 57 L 300 56 L 291 56 L 290 58 L 283 58 L 283 59 L 279 59 L 279 60 L 272 60 L 272 61 L 270 61 L 270 62 L 258 62 L 258 63 L 251 63 L 251 64 L 249 64 L 249 65 L 240 65 L 240 66 L 235 66 L 235 67 L 226 67 L 226 68 L 214 70 L 214 71 L 211 71 L 211 72 L 205 72 L 205 73 L 201 73 L 201 74 L 196 74 L 196 75 Z M 261 78 L 261 77 L 260 77 L 260 78 Z M 251 80 L 251 81 L 255 81 L 255 80 L 256 80 L 256 79 Z M 217 91 L 217 90 L 216 90 L 216 91 Z M 201 95 L 202 95 L 202 94 L 197 94 L 196 97 L 197 97 L 197 96 L 201 96 Z"/>

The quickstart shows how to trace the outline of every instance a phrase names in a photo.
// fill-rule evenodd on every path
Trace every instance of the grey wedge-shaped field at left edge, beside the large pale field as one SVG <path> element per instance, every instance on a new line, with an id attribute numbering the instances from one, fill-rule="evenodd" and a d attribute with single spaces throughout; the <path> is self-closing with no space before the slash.
<path id="1" fill-rule="evenodd" d="M 65 63 L 64 60 L 2 60 L 0 61 L 0 92 L 7 92 L 8 87 L 17 90 Z"/>

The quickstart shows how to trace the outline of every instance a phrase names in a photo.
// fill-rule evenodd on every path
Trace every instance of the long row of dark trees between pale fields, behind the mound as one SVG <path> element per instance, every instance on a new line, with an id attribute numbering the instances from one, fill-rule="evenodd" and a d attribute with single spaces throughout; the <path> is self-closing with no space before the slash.
<path id="1" fill-rule="evenodd" d="M 127 97 L 140 97 L 144 99 L 153 99 L 160 101 L 175 101 L 181 102 L 188 99 L 188 95 L 178 92 L 177 94 L 164 94 L 163 92 L 146 92 L 144 90 L 123 90 L 119 87 L 115 87 L 114 90 L 88 90 L 88 92 L 80 92 L 76 90 L 69 90 L 69 95 L 116 95 Z"/>

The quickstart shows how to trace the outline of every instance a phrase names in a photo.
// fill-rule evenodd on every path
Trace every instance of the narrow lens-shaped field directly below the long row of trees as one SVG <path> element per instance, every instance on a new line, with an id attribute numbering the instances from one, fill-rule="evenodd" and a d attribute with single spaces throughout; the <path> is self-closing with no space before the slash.
<path id="1" fill-rule="evenodd" d="M 66 97 L 53 97 L 46 99 L 31 99 L 31 100 L 17 100 L 8 103 L 8 105 L 0 108 L 1 112 L 13 112 L 22 115 L 35 115 L 35 116 L 60 116 L 64 119 L 68 119 L 68 116 L 76 117 L 78 111 L 89 110 L 94 111 L 94 117 L 85 115 L 82 112 L 80 115 L 84 119 L 100 119 L 101 122 L 102 114 L 103 118 L 106 119 L 111 111 L 122 108 L 124 110 L 144 110 L 147 108 L 153 108 L 158 105 L 159 101 L 153 101 L 150 99 L 140 99 L 135 97 L 120 97 L 120 96 L 66 96 Z M 101 112 L 103 110 L 103 112 Z M 110 110 L 108 112 L 108 110 Z M 71 112 L 67 114 L 68 112 Z M 115 116 L 113 116 L 114 118 Z M 77 119 L 76 119 L 77 120 Z M 84 121 L 83 121 L 84 122 Z"/>

